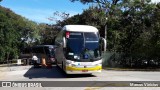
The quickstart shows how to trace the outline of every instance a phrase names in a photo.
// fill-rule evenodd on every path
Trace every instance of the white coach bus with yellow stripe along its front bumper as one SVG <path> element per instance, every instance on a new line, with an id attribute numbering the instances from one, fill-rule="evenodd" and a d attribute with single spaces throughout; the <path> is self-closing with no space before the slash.
<path id="1" fill-rule="evenodd" d="M 102 46 L 106 46 L 106 40 L 100 38 L 97 28 L 66 25 L 57 35 L 55 45 L 55 61 L 67 74 L 101 72 Z"/>

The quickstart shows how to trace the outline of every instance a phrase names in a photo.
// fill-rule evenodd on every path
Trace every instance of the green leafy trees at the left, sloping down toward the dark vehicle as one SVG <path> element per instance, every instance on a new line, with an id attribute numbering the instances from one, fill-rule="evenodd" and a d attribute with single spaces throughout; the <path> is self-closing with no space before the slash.
<path id="1" fill-rule="evenodd" d="M 0 61 L 18 58 L 20 50 L 39 42 L 39 25 L 0 6 Z"/>

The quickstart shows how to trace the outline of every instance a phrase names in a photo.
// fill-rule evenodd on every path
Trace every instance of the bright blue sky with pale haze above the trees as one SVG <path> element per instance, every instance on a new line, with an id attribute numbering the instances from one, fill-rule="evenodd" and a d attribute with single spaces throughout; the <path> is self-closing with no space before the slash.
<path id="1" fill-rule="evenodd" d="M 152 0 L 152 2 L 157 3 L 160 0 Z M 55 17 L 53 13 L 56 11 L 73 16 L 89 8 L 89 5 L 73 3 L 70 0 L 2 0 L 0 4 L 29 20 L 48 24 L 55 24 L 55 21 L 50 21 L 48 18 Z"/>

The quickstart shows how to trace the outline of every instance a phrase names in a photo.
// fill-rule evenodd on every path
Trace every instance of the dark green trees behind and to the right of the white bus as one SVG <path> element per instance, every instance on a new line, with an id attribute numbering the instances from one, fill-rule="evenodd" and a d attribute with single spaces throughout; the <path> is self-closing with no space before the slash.
<path id="1" fill-rule="evenodd" d="M 118 60 L 122 65 L 141 66 L 143 60 L 147 60 L 147 65 L 151 65 L 151 60 L 160 62 L 160 3 L 152 4 L 151 0 L 70 1 L 97 3 L 98 7 L 89 8 L 62 23 L 93 25 L 99 28 L 101 36 L 107 25 L 107 49 L 123 53 Z"/>

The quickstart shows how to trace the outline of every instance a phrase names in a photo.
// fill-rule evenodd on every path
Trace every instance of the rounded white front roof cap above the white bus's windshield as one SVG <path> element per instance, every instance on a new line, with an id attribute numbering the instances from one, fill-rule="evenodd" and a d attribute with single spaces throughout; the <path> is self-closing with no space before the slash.
<path id="1" fill-rule="evenodd" d="M 72 32 L 98 32 L 98 29 L 89 25 L 66 25 L 63 27 L 65 31 Z"/>

